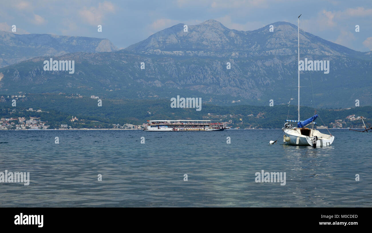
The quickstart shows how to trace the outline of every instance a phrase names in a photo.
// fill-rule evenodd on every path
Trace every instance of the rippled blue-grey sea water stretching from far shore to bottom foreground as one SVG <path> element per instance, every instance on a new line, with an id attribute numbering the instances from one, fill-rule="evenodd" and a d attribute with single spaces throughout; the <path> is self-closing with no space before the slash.
<path id="1" fill-rule="evenodd" d="M 0 207 L 371 207 L 372 133 L 331 133 L 312 148 L 275 129 L 0 131 L 0 172 L 30 173 L 0 183 Z M 286 184 L 256 183 L 261 170 Z"/>

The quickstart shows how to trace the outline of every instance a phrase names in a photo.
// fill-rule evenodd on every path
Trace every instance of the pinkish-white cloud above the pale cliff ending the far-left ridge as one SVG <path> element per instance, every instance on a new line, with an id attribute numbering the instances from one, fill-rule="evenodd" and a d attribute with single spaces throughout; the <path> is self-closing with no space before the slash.
<path id="1" fill-rule="evenodd" d="M 98 7 L 84 7 L 83 10 L 79 11 L 80 17 L 90 25 L 103 24 L 105 16 L 109 13 L 115 13 L 115 6 L 109 1 L 99 3 Z"/>

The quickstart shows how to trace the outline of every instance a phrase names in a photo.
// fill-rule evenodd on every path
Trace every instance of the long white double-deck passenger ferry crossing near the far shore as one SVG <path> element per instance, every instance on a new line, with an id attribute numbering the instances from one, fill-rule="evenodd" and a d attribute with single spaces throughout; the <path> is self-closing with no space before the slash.
<path id="1" fill-rule="evenodd" d="M 222 131 L 229 129 L 222 122 L 210 120 L 148 120 L 147 131 Z"/>

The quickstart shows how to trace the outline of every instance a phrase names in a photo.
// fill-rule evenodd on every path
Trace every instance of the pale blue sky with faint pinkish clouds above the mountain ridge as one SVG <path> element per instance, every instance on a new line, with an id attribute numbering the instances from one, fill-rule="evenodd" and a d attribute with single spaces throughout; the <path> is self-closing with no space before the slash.
<path id="1" fill-rule="evenodd" d="M 0 31 L 16 25 L 17 34 L 107 38 L 118 48 L 177 23 L 215 19 L 251 31 L 278 21 L 297 25 L 302 14 L 304 31 L 353 50 L 372 50 L 372 0 L 0 0 L 0 6 Z"/>

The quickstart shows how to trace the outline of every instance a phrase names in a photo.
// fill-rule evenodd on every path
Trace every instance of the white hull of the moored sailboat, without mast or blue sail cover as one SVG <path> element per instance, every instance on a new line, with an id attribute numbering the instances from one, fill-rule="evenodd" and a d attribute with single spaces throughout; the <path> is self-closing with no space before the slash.
<path id="1" fill-rule="evenodd" d="M 285 136 L 289 137 L 289 141 L 286 142 L 283 140 L 285 144 L 288 145 L 295 145 L 295 146 L 312 146 L 312 138 L 313 136 L 317 136 L 317 147 L 326 147 L 333 143 L 334 136 L 327 135 L 324 133 L 319 132 L 315 129 L 311 130 L 309 136 L 302 135 L 301 130 L 299 128 L 296 129 L 284 129 Z"/>

